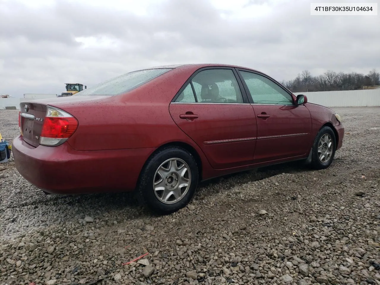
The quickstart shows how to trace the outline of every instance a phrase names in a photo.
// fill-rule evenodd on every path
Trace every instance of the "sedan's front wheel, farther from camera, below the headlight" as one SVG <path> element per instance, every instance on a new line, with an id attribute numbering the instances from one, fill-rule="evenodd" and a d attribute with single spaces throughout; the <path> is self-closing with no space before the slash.
<path id="1" fill-rule="evenodd" d="M 314 169 L 325 169 L 330 166 L 336 151 L 336 138 L 334 131 L 325 126 L 315 137 L 312 149 L 311 166 Z"/>

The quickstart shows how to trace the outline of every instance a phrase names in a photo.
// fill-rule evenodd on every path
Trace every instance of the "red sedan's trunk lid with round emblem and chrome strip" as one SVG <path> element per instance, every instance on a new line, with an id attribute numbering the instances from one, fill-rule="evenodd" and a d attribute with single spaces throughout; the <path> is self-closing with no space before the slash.
<path id="1" fill-rule="evenodd" d="M 23 101 L 20 103 L 22 139 L 34 147 L 40 145 L 40 135 L 48 105 L 65 111 L 65 107 L 72 105 L 78 107 L 82 105 L 85 107 L 84 105 L 90 103 L 89 101 L 100 101 L 108 97 L 109 96 L 70 96 Z M 73 114 L 73 116 L 75 115 Z"/>

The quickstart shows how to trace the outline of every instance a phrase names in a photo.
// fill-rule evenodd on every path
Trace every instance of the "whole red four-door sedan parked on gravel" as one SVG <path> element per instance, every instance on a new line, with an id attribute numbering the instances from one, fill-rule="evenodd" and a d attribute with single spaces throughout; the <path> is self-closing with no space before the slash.
<path id="1" fill-rule="evenodd" d="M 338 114 L 259 71 L 171 65 L 71 97 L 22 102 L 17 170 L 47 193 L 136 190 L 151 210 L 186 206 L 198 181 L 293 160 L 328 167 Z"/>

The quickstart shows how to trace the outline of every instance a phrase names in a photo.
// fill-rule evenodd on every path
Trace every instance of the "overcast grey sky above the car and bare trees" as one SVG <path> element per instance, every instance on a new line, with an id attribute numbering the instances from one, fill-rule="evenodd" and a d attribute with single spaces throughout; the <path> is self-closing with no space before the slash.
<path id="1" fill-rule="evenodd" d="M 310 16 L 310 2 L 0 0 L 0 94 L 62 93 L 174 63 L 243 65 L 279 81 L 380 71 L 380 16 Z"/>

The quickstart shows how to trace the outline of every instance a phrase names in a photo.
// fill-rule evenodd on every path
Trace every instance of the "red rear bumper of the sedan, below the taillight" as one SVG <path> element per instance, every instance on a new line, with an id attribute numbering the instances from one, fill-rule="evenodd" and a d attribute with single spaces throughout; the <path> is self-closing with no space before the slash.
<path id="1" fill-rule="evenodd" d="M 140 171 L 155 149 L 74 150 L 27 144 L 17 136 L 12 144 L 17 171 L 31 184 L 53 194 L 133 191 Z"/>

